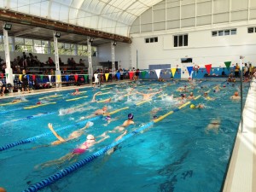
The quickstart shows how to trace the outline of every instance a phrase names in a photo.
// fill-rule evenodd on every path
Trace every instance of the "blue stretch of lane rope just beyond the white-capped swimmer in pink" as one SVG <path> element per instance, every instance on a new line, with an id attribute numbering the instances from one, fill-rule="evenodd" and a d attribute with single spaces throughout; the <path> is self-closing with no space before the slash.
<path id="1" fill-rule="evenodd" d="M 73 125 L 67 125 L 67 126 L 63 126 L 55 131 L 62 131 L 62 130 L 65 130 L 67 128 L 71 128 L 71 127 L 74 127 L 74 126 L 79 126 L 79 125 L 84 125 L 84 123 L 88 122 L 88 121 L 94 121 L 96 119 L 100 119 L 102 116 L 96 116 L 94 118 L 90 118 L 90 119 L 85 119 L 83 121 L 80 121 L 76 124 L 73 124 Z M 9 148 L 14 148 L 15 146 L 18 146 L 18 145 L 21 145 L 21 144 L 25 144 L 25 143 L 31 143 L 35 140 L 37 140 L 38 138 L 41 138 L 41 137 L 46 137 L 48 135 L 52 134 L 51 131 L 48 131 L 48 132 L 45 132 L 41 135 L 38 135 L 38 136 L 35 136 L 35 137 L 30 137 L 30 138 L 27 138 L 27 139 L 22 139 L 18 142 L 15 142 L 15 143 L 9 143 L 9 144 L 6 144 L 4 145 L 3 147 L 0 147 L 0 151 L 4 151 L 4 150 L 7 150 Z"/>

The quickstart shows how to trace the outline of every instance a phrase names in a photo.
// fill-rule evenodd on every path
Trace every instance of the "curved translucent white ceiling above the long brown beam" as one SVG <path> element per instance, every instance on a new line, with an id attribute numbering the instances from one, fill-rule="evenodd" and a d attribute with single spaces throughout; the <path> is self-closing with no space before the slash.
<path id="1" fill-rule="evenodd" d="M 134 20 L 162 0 L 5 0 L 0 8 L 129 37 Z"/>

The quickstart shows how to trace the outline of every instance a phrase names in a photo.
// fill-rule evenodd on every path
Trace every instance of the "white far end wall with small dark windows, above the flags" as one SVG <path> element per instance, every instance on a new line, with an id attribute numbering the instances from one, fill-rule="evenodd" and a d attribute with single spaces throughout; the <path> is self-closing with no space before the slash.
<path id="1" fill-rule="evenodd" d="M 138 50 L 138 68 L 148 69 L 150 64 L 172 64 L 172 67 L 182 67 L 181 58 L 192 57 L 194 64 L 204 67 L 224 67 L 224 61 L 236 63 L 240 55 L 245 56 L 245 62 L 256 65 L 256 32 L 247 33 L 250 25 L 232 24 L 230 26 L 208 26 L 204 28 L 188 28 L 188 30 L 172 30 L 170 32 L 149 32 L 133 34 L 131 44 L 131 63 L 136 67 L 136 51 Z M 236 35 L 212 37 L 212 31 L 236 28 Z M 188 47 L 173 47 L 173 35 L 189 34 Z M 145 43 L 145 38 L 158 37 L 158 43 Z M 191 65 L 190 65 L 191 66 Z"/>

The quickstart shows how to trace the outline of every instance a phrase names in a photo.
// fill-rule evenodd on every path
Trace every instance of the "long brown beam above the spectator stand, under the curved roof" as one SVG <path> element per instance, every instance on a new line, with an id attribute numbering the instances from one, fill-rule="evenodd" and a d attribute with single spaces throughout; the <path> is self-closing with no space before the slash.
<path id="1" fill-rule="evenodd" d="M 131 38 L 124 36 L 115 35 L 108 32 L 101 32 L 90 28 L 85 28 L 81 26 L 69 25 L 56 20 L 47 20 L 32 15 L 20 14 L 17 12 L 0 9 L 0 20 L 6 22 L 13 22 L 27 26 L 42 27 L 49 30 L 55 30 L 58 32 L 68 32 L 78 35 L 90 36 L 93 38 L 105 38 L 117 42 L 124 42 L 131 44 Z"/>

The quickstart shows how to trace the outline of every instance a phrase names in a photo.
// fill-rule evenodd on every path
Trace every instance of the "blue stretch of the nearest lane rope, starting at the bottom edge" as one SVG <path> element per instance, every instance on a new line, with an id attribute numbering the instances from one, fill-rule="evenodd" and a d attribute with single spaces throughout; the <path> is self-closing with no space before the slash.
<path id="1" fill-rule="evenodd" d="M 154 125 L 154 122 L 151 121 L 146 125 L 143 125 L 142 127 L 138 128 L 135 131 L 132 131 L 131 133 L 125 135 L 125 137 L 120 138 L 118 141 L 109 144 L 108 146 L 96 151 L 94 154 L 91 154 L 90 156 L 84 158 L 83 160 L 79 160 L 78 162 L 74 163 L 72 166 L 68 166 L 67 168 L 61 170 L 61 172 L 57 172 L 48 178 L 45 178 L 41 182 L 35 183 L 29 188 L 23 190 L 22 192 L 36 192 L 39 189 L 43 189 L 44 187 L 48 186 L 51 183 L 55 183 L 56 181 L 60 180 L 62 177 L 67 176 L 68 174 L 78 170 L 80 167 L 85 166 L 90 161 L 95 160 L 97 157 L 101 156 L 102 154 L 105 154 L 108 149 L 113 148 L 117 146 L 119 143 L 124 142 L 127 138 L 134 136 L 135 134 L 139 133 L 140 131 L 143 131 L 144 129 L 148 128 L 149 126 Z"/>

